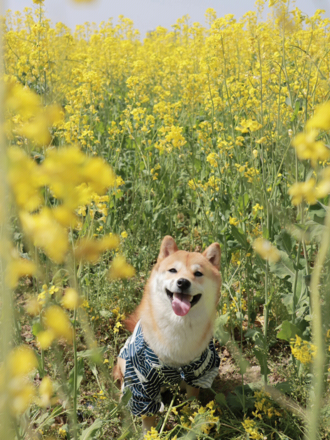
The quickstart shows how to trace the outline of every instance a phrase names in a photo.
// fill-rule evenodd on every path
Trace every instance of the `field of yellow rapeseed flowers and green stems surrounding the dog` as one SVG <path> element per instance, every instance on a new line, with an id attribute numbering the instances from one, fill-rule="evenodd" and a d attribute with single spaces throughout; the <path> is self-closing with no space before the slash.
<path id="1" fill-rule="evenodd" d="M 111 371 L 167 234 L 220 243 L 222 360 L 147 440 L 329 437 L 329 27 L 286 0 L 145 37 L 7 11 L 4 439 L 139 438 Z"/>

